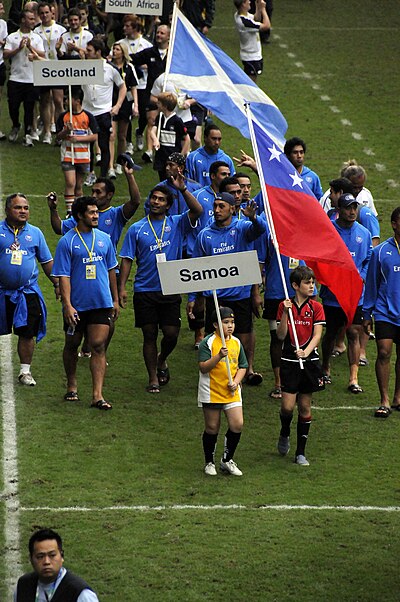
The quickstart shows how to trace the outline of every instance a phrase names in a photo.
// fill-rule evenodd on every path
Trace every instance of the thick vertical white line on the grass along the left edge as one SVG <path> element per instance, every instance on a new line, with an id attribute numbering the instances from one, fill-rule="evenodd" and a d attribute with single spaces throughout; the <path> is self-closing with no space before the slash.
<path id="1" fill-rule="evenodd" d="M 1 190 L 0 173 L 0 198 Z M 0 219 L 4 219 L 3 205 L 0 206 Z M 12 366 L 12 335 L 0 337 L 0 403 L 2 406 L 3 427 L 3 479 L 4 514 L 4 563 L 6 598 L 12 599 L 12 593 L 21 574 L 19 496 L 18 496 L 18 447 L 15 419 L 14 372 Z"/>

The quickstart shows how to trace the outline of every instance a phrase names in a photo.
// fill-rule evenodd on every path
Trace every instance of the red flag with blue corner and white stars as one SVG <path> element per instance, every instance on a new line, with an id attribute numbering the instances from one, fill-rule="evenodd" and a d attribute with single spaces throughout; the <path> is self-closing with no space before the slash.
<path id="1" fill-rule="evenodd" d="M 306 262 L 351 324 L 363 281 L 349 250 L 285 154 L 254 121 L 253 130 L 280 252 Z"/>

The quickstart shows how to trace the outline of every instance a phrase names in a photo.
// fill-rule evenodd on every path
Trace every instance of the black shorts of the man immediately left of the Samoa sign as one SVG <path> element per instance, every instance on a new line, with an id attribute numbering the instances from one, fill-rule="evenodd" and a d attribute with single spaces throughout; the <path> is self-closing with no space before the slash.
<path id="1" fill-rule="evenodd" d="M 133 295 L 133 309 L 135 312 L 135 326 L 142 328 L 147 324 L 158 326 L 181 326 L 180 295 L 163 295 L 160 292 L 135 293 Z"/>

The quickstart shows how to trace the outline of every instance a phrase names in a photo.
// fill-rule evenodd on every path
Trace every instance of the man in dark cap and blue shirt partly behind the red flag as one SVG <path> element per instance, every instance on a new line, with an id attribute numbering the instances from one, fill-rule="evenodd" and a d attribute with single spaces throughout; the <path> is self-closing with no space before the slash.
<path id="1" fill-rule="evenodd" d="M 339 197 L 338 211 L 339 217 L 333 222 L 333 225 L 349 249 L 361 278 L 365 280 L 372 253 L 371 234 L 364 226 L 357 222 L 358 202 L 352 194 L 346 193 Z M 321 286 L 320 297 L 324 305 L 326 318 L 326 331 L 322 339 L 322 368 L 325 374 L 325 382 L 330 384 L 332 382 L 330 378 L 330 358 L 336 335 L 346 325 L 346 316 L 336 297 L 326 286 Z M 362 303 L 363 295 L 361 295 L 353 323 L 348 325 L 346 330 L 347 354 L 350 367 L 348 390 L 354 394 L 363 392 L 358 384 Z"/>

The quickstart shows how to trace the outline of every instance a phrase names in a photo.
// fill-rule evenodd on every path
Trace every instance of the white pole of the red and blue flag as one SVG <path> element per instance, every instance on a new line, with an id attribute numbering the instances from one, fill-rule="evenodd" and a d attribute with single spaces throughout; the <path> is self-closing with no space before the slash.
<path id="1" fill-rule="evenodd" d="M 249 103 L 245 103 L 245 109 L 246 109 L 246 115 L 247 115 L 247 122 L 249 124 L 250 140 L 251 140 L 251 144 L 253 147 L 254 159 L 255 159 L 255 162 L 257 165 L 258 177 L 260 179 L 261 194 L 262 194 L 263 202 L 264 202 L 265 216 L 267 218 L 268 227 L 270 229 L 272 242 L 273 242 L 273 245 L 275 248 L 276 258 L 278 260 L 278 266 L 279 266 L 279 272 L 280 272 L 281 279 L 282 279 L 283 291 L 285 293 L 286 299 L 289 299 L 289 292 L 288 292 L 288 289 L 286 286 L 286 278 L 285 278 L 285 273 L 283 271 L 282 258 L 281 258 L 281 253 L 279 250 L 279 242 L 276 237 L 275 224 L 274 224 L 274 220 L 272 218 L 271 206 L 270 206 L 269 200 L 268 200 L 268 192 L 267 192 L 267 188 L 265 186 L 264 173 L 262 170 L 260 155 L 258 152 L 257 141 L 256 141 L 256 137 L 254 134 L 253 121 L 252 121 L 252 117 L 251 117 Z M 294 338 L 294 342 L 296 345 L 296 351 L 298 351 L 300 349 L 299 339 L 297 337 L 296 326 L 294 324 L 293 312 L 292 312 L 291 308 L 289 308 L 289 320 L 290 320 L 290 325 L 291 325 L 292 331 L 293 331 L 293 338 Z M 299 359 L 299 363 L 300 363 L 300 368 L 304 369 L 302 358 L 299 357 L 298 359 Z"/>

